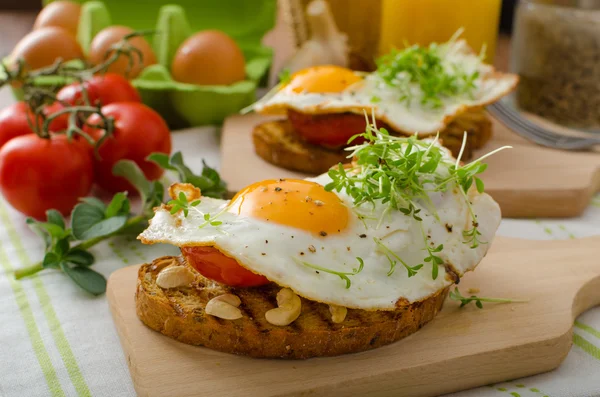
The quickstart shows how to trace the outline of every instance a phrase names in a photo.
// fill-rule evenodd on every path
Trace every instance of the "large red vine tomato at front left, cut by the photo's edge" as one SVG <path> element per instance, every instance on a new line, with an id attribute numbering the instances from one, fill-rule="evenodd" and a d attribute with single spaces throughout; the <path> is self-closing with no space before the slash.
<path id="1" fill-rule="evenodd" d="M 64 135 L 23 135 L 0 149 L 0 192 L 25 215 L 42 219 L 51 208 L 67 215 L 93 181 L 90 151 Z"/>

